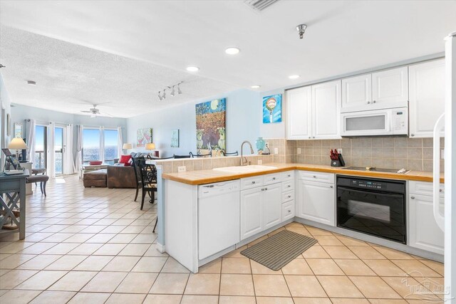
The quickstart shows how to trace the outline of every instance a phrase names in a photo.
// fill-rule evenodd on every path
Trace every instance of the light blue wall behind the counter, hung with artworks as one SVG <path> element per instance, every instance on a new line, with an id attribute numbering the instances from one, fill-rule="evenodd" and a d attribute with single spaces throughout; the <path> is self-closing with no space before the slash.
<path id="1" fill-rule="evenodd" d="M 161 153 L 160 157 L 196 152 L 195 104 L 218 98 L 227 98 L 227 152 L 240 152 L 244 140 L 254 145 L 260 134 L 261 100 L 258 92 L 244 89 L 128 118 L 128 142 L 133 143 L 134 150 L 143 151 L 143 147 L 135 147 L 136 130 L 152 127 L 152 140 Z M 162 102 L 166 103 L 166 100 Z M 171 131 L 175 129 L 180 131 L 178 148 L 171 147 Z"/>

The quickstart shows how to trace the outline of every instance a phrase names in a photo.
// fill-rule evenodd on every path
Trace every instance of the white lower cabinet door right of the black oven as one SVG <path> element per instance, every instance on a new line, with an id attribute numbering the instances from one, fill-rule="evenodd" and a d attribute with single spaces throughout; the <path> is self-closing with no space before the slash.
<path id="1" fill-rule="evenodd" d="M 441 213 L 444 211 L 444 204 L 444 199 L 440 198 Z M 432 208 L 432 196 L 410 194 L 408 245 L 443 254 L 444 234 L 435 222 Z"/>

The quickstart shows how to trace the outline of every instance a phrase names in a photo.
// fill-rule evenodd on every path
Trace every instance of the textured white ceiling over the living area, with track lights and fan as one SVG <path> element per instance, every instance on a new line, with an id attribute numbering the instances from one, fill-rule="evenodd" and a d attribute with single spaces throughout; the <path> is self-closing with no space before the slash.
<path id="1" fill-rule="evenodd" d="M 7 26 L 0 28 L 0 63 L 14 103 L 69 113 L 95 104 L 102 114 L 132 117 L 237 88 Z M 180 81 L 182 95 L 167 90 L 159 100 L 159 90 Z"/>

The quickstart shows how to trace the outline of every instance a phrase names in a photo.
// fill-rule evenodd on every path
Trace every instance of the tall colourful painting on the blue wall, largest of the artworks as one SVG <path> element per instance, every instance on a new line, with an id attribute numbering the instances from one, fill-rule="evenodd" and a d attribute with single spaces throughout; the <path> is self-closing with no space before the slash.
<path id="1" fill-rule="evenodd" d="M 197 114 L 197 153 L 222 156 L 225 152 L 226 98 L 214 99 L 195 105 Z"/>

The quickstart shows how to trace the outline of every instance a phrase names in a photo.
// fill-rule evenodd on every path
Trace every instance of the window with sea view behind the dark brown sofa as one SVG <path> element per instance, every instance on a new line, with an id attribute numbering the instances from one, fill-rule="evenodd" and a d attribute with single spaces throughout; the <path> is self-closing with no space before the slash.
<path id="1" fill-rule="evenodd" d="M 101 160 L 112 164 L 118 158 L 118 131 L 115 129 L 84 128 L 83 163 Z"/>

